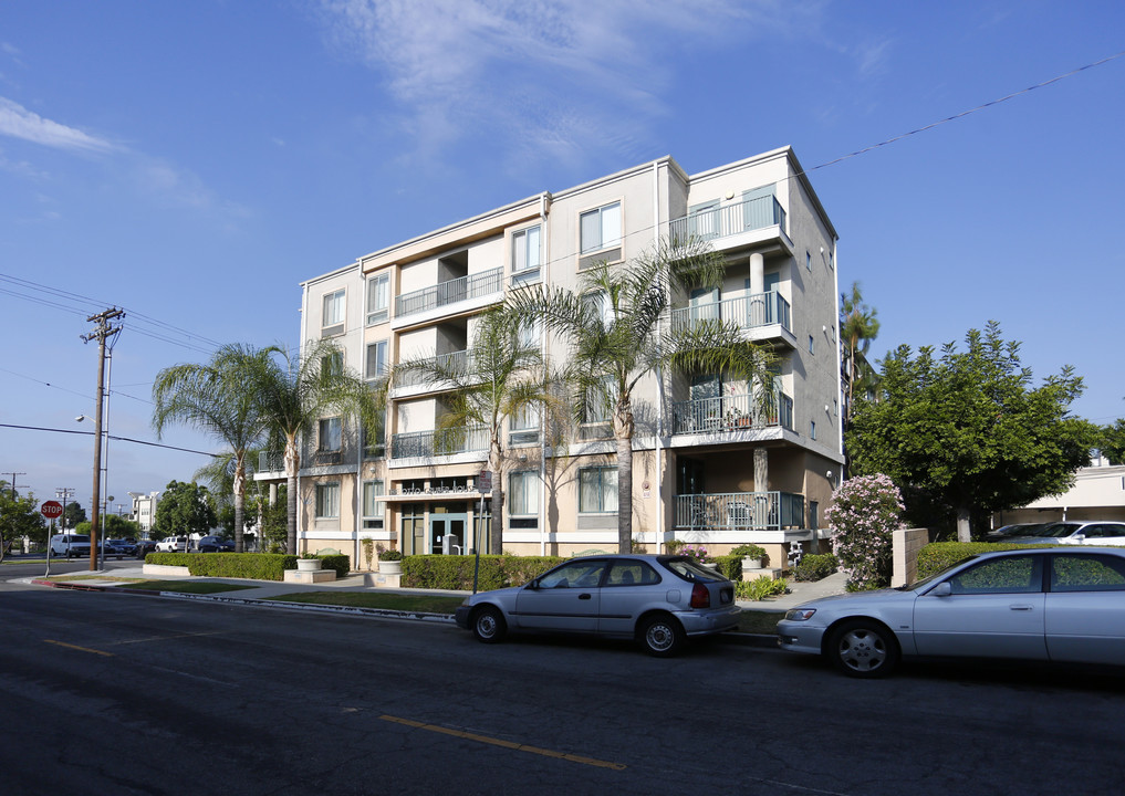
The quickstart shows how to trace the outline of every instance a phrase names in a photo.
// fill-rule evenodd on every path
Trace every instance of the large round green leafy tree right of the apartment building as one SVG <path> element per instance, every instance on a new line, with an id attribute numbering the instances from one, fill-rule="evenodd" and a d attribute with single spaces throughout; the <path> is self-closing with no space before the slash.
<path id="1" fill-rule="evenodd" d="M 858 474 L 885 473 L 917 525 L 972 521 L 1065 491 L 1090 461 L 1098 428 L 1069 414 L 1082 380 L 1072 369 L 1032 383 L 1019 344 L 989 323 L 935 356 L 900 346 L 881 364 L 880 399 L 856 406 L 847 444 Z"/>

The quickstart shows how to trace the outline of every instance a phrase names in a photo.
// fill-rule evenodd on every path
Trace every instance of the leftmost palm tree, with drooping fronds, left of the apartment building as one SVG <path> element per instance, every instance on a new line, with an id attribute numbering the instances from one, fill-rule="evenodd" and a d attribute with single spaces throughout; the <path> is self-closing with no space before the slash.
<path id="1" fill-rule="evenodd" d="M 209 364 L 178 364 L 156 374 L 152 424 L 156 436 L 172 423 L 194 426 L 231 447 L 234 492 L 234 549 L 242 552 L 246 496 L 246 454 L 261 441 L 269 417 L 252 388 L 269 371 L 271 349 L 232 344 Z"/>

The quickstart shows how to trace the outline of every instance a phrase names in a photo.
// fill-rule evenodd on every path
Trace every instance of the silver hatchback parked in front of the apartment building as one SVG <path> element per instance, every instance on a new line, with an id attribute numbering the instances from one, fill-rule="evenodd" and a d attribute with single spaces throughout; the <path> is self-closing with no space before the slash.
<path id="1" fill-rule="evenodd" d="M 667 657 L 688 637 L 734 628 L 740 614 L 735 585 L 690 558 L 591 555 L 525 586 L 472 595 L 456 618 L 486 644 L 510 631 L 585 633 L 636 639 Z"/>

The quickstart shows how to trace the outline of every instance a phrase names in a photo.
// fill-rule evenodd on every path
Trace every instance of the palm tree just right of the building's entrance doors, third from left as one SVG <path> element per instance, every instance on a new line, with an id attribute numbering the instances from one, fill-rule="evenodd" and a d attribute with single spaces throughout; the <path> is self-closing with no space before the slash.
<path id="1" fill-rule="evenodd" d="M 448 386 L 450 399 L 439 428 L 487 429 L 488 469 L 494 476 L 488 552 L 494 555 L 504 552 L 504 428 L 522 411 L 556 404 L 540 347 L 522 334 L 531 328 L 529 322 L 503 307 L 490 309 L 477 318 L 464 360 L 406 360 L 395 365 L 386 382 L 394 386 L 408 374 L 417 374 L 430 383 Z"/>

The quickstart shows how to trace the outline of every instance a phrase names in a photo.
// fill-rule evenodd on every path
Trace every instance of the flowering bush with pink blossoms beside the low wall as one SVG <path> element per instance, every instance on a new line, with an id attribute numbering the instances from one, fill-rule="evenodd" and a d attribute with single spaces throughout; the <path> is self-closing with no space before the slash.
<path id="1" fill-rule="evenodd" d="M 886 476 L 861 476 L 832 494 L 825 518 L 848 591 L 891 585 L 891 533 L 902 527 L 902 496 Z"/>

